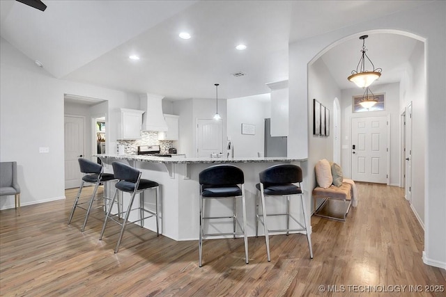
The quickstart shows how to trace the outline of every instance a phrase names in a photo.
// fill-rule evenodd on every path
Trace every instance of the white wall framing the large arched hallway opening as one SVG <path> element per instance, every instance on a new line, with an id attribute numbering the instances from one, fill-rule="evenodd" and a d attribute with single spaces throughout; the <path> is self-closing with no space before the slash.
<path id="1" fill-rule="evenodd" d="M 308 156 L 307 65 L 344 38 L 364 33 L 403 33 L 426 41 L 426 129 L 417 141 L 425 146 L 424 263 L 446 268 L 446 1 L 431 1 L 385 17 L 346 26 L 289 46 L 289 152 Z M 297 29 L 296 29 L 297 30 Z M 406 32 L 406 33 L 404 33 Z M 313 149 L 313 147 L 310 147 Z"/>

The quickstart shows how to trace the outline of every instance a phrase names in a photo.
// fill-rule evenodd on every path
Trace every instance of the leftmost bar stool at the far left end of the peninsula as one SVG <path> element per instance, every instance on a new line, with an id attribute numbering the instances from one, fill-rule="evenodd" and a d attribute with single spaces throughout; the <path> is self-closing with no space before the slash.
<path id="1" fill-rule="evenodd" d="M 89 220 L 90 211 L 91 211 L 91 207 L 93 206 L 93 202 L 101 199 L 101 198 L 95 197 L 96 192 L 98 191 L 98 187 L 102 184 L 106 184 L 107 182 L 111 182 L 111 181 L 115 180 L 116 178 L 114 177 L 114 175 L 112 173 L 103 173 L 104 168 L 102 167 L 102 165 L 100 165 L 98 163 L 94 163 L 92 161 L 82 159 L 82 158 L 79 158 L 77 161 L 79 161 L 79 167 L 81 169 L 81 172 L 84 173 L 84 176 L 82 177 L 82 182 L 81 182 L 81 186 L 79 187 L 79 191 L 77 191 L 75 203 L 72 205 L 70 218 L 68 218 L 68 225 L 70 225 L 70 223 L 71 223 L 72 216 L 75 214 L 76 208 L 79 207 L 80 209 L 84 209 L 84 210 L 86 210 L 86 214 L 85 214 L 85 218 L 84 218 L 84 225 L 82 225 L 82 229 L 81 229 L 81 232 L 84 232 L 86 222 L 87 222 L 87 220 Z M 81 197 L 82 188 L 84 188 L 84 185 L 86 183 L 94 184 L 95 188 L 93 190 L 93 194 L 91 195 L 91 198 L 89 201 L 80 202 L 79 200 Z M 107 212 L 106 201 L 110 201 L 111 199 L 109 199 L 105 196 L 105 191 L 104 191 L 104 196 L 103 196 L 102 200 L 104 201 L 104 204 L 100 205 L 99 207 L 104 207 L 104 211 Z M 83 204 L 86 204 L 86 203 L 88 203 L 89 205 L 88 205 L 88 207 L 85 208 L 83 206 Z"/>

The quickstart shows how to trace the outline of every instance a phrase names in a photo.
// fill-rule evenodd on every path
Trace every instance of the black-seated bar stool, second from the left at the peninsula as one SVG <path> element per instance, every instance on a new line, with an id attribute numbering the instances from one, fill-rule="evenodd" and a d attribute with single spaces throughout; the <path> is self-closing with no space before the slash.
<path id="1" fill-rule="evenodd" d="M 118 243 L 116 243 L 116 248 L 114 249 L 114 252 L 118 252 L 119 246 L 121 245 L 121 240 L 123 238 L 123 234 L 125 231 L 125 226 L 127 225 L 128 218 L 130 216 L 130 212 L 132 210 L 139 209 L 139 221 L 141 227 L 144 226 L 144 220 L 146 218 L 151 218 L 155 216 L 156 218 L 156 235 L 159 236 L 159 227 L 158 227 L 158 196 L 160 191 L 160 185 L 157 182 L 153 182 L 149 179 L 141 179 L 142 172 L 134 169 L 128 165 L 125 165 L 123 163 L 119 162 L 113 162 L 113 171 L 114 176 L 119 179 L 119 182 L 116 183 L 115 187 L 116 190 L 114 191 L 113 199 L 112 199 L 112 205 L 109 207 L 109 211 L 107 212 L 107 216 L 105 216 L 104 225 L 102 226 L 102 232 L 100 232 L 99 240 L 102 240 L 102 236 L 104 235 L 105 226 L 107 225 L 107 220 L 110 218 L 111 220 L 114 220 L 114 222 L 118 223 L 118 225 L 121 225 L 121 232 L 119 233 L 118 237 Z M 155 188 L 155 211 L 151 209 L 144 208 L 144 191 L 146 191 L 149 188 Z M 112 214 L 112 207 L 116 200 L 116 195 L 118 195 L 118 191 L 130 193 L 130 202 L 128 204 L 127 211 L 123 211 L 122 213 L 118 211 L 118 214 Z M 132 204 L 134 201 L 134 196 L 136 194 L 139 195 L 139 207 L 132 209 Z M 150 214 L 149 216 L 144 216 L 145 213 Z M 123 222 L 119 222 L 114 217 L 120 216 L 121 214 L 125 214 Z M 135 223 L 138 220 L 135 220 L 130 223 Z"/>

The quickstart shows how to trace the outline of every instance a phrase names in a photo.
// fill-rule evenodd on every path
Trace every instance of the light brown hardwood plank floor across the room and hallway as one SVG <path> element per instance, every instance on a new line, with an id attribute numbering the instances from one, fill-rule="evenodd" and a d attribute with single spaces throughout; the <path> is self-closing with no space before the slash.
<path id="1" fill-rule="evenodd" d="M 67 225 L 77 193 L 68 190 L 66 200 L 22 207 L 21 216 L 0 212 L 0 295 L 446 296 L 446 271 L 422 262 L 424 232 L 403 190 L 357 187 L 345 223 L 312 217 L 314 259 L 304 234 L 270 236 L 271 262 L 264 237 L 249 238 L 249 264 L 243 239 L 213 239 L 203 243 L 202 268 L 197 241 L 133 224 L 114 254 L 119 226 L 109 223 L 99 241 L 99 209 L 84 233 L 81 209 Z"/>

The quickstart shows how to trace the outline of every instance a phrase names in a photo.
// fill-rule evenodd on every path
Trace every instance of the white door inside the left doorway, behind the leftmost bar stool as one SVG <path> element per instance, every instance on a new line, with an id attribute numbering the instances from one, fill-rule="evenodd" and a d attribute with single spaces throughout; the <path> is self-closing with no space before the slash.
<path id="1" fill-rule="evenodd" d="M 65 188 L 81 184 L 82 173 L 77 159 L 84 156 L 84 117 L 65 116 Z"/>

